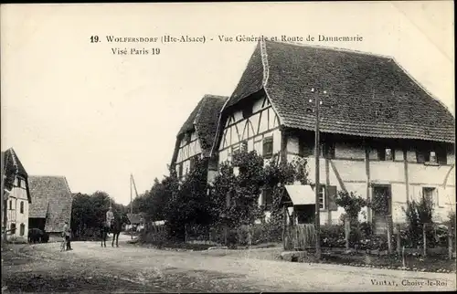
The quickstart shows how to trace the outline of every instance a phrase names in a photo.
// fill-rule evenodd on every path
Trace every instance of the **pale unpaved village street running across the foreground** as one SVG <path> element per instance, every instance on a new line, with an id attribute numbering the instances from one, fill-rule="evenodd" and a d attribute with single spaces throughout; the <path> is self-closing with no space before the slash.
<path id="1" fill-rule="evenodd" d="M 67 291 L 411 291 L 456 288 L 455 274 L 289 263 L 255 258 L 255 252 L 249 250 L 230 255 L 220 249 L 201 252 L 157 250 L 127 245 L 125 241 L 117 248 L 111 244 L 108 246 L 101 248 L 97 242 L 74 242 L 74 250 L 69 252 L 59 252 L 58 244 L 22 246 L 20 251 L 33 257 L 34 261 L 18 260 L 16 264 L 5 264 L 6 286 L 9 283 L 9 289 L 16 291 L 23 283 L 18 282 L 23 275 L 29 279 L 39 277 L 37 285 L 41 288 L 23 288 L 37 291 L 49 290 L 50 286 L 46 286 L 49 276 L 59 281 L 54 286 L 58 289 L 53 290 Z"/>

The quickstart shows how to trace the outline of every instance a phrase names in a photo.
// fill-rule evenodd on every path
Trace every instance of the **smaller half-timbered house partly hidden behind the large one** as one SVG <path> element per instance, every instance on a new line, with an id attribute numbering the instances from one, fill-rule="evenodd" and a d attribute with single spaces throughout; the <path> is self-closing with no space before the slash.
<path id="1" fill-rule="evenodd" d="M 205 95 L 178 131 L 171 166 L 175 167 L 180 179 L 194 168 L 196 158 L 208 159 L 209 182 L 218 172 L 216 157 L 210 158 L 209 155 L 218 127 L 219 111 L 227 99 L 228 97 Z"/>

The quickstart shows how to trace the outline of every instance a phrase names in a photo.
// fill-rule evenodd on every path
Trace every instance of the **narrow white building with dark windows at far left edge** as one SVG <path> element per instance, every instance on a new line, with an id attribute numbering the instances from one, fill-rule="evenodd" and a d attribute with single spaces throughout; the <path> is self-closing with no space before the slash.
<path id="1" fill-rule="evenodd" d="M 27 241 L 28 206 L 31 204 L 28 175 L 13 148 L 2 152 L 2 194 L 2 228 L 6 228 L 7 239 Z"/>

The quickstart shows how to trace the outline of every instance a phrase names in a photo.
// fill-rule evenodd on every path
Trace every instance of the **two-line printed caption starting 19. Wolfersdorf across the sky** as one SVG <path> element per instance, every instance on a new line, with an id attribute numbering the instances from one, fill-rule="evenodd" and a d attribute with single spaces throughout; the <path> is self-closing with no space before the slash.
<path id="1" fill-rule="evenodd" d="M 217 35 L 214 37 L 207 37 L 205 35 L 164 35 L 161 37 L 120 37 L 120 36 L 106 36 L 108 43 L 115 43 L 118 47 L 112 47 L 112 54 L 114 55 L 159 55 L 161 48 L 157 47 L 160 44 L 190 44 L 200 43 L 205 44 L 208 42 L 222 42 L 222 43 L 245 43 L 245 42 L 259 42 L 259 41 L 276 41 L 276 42 L 362 42 L 364 37 L 359 35 L 354 36 L 325 36 L 325 35 L 307 35 L 301 36 L 272 36 L 266 37 L 263 35 Z M 98 36 L 90 37 L 91 43 L 101 43 L 101 38 Z M 143 47 L 123 47 L 133 46 L 134 44 L 142 44 Z M 146 44 L 152 44 L 154 47 L 147 47 Z"/>

